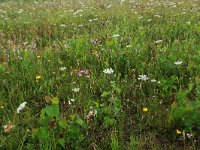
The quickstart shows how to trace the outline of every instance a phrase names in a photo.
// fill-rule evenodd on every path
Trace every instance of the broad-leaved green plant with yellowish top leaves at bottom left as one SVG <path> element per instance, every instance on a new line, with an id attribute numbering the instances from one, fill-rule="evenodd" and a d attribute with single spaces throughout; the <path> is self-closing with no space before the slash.
<path id="1" fill-rule="evenodd" d="M 33 138 L 39 140 L 41 149 L 81 147 L 84 140 L 81 128 L 86 129 L 85 122 L 73 115 L 69 120 L 60 117 L 59 99 L 54 97 L 51 101 L 41 110 L 40 127 L 33 130 Z"/>

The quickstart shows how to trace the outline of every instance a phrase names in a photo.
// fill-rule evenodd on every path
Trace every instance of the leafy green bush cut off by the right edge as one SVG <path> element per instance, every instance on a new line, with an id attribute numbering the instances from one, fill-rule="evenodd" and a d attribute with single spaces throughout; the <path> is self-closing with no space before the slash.
<path id="1" fill-rule="evenodd" d="M 178 129 L 186 132 L 199 133 L 200 126 L 200 97 L 189 98 L 194 84 L 188 85 L 188 90 L 180 89 L 177 93 L 177 102 L 171 106 L 170 122 Z M 198 90 L 198 89 L 196 89 Z"/>

